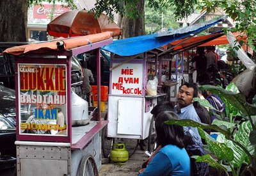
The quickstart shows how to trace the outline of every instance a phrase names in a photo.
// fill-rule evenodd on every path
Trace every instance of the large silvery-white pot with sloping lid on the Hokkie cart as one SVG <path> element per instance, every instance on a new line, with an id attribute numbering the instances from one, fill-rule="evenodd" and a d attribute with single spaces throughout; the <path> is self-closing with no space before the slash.
<path id="1" fill-rule="evenodd" d="M 88 102 L 72 92 L 72 126 L 86 125 L 90 121 Z"/>

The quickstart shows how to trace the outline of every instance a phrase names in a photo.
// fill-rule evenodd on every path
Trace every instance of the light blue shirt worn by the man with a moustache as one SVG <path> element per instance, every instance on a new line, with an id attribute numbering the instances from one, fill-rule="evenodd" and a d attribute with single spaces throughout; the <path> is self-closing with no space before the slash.
<path id="1" fill-rule="evenodd" d="M 178 106 L 175 106 L 175 110 L 177 111 L 177 114 L 182 119 L 190 119 L 190 120 L 194 120 L 195 122 L 201 122 L 199 116 L 196 113 L 196 110 L 195 110 L 193 104 L 190 104 L 189 106 L 186 106 L 185 108 L 181 108 L 180 110 L 178 109 Z M 200 137 L 196 127 L 184 127 L 185 131 L 189 131 L 189 129 L 191 129 L 196 134 L 196 136 L 198 136 L 198 138 L 200 138 L 200 140 L 201 140 L 201 137 Z"/>

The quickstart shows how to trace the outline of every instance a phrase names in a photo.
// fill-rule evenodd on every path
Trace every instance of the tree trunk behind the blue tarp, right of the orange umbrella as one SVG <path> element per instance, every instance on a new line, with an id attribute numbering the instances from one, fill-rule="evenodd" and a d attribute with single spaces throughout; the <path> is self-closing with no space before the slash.
<path id="1" fill-rule="evenodd" d="M 123 18 L 119 16 L 118 25 L 122 28 L 122 38 L 145 35 L 145 0 L 138 1 L 137 9 L 140 17 L 136 19 L 127 17 L 127 15 Z"/>

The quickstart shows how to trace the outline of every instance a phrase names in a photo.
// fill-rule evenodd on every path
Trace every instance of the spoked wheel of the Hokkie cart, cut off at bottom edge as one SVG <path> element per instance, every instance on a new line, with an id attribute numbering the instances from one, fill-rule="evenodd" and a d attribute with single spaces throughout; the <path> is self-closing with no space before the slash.
<path id="1" fill-rule="evenodd" d="M 83 157 L 79 166 L 79 176 L 99 176 L 97 165 L 92 156 Z"/>

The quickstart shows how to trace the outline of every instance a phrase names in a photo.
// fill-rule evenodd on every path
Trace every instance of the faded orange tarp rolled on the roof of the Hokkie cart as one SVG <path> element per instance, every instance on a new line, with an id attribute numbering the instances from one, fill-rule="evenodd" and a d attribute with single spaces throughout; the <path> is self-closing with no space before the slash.
<path id="1" fill-rule="evenodd" d="M 102 40 L 106 40 L 111 38 L 113 32 L 104 32 L 98 33 L 94 35 L 86 35 L 86 36 L 76 36 L 71 38 L 61 38 L 60 40 L 52 40 L 49 42 L 42 42 L 38 44 L 28 44 L 28 45 L 21 45 L 17 47 L 11 47 L 6 49 L 3 53 L 6 54 L 13 54 L 13 55 L 20 55 L 27 52 L 35 52 L 40 49 L 42 51 L 59 51 L 57 47 L 58 42 L 63 42 L 63 50 L 73 49 L 75 47 L 81 47 L 88 44 L 93 44 L 95 42 L 100 42 Z"/>

